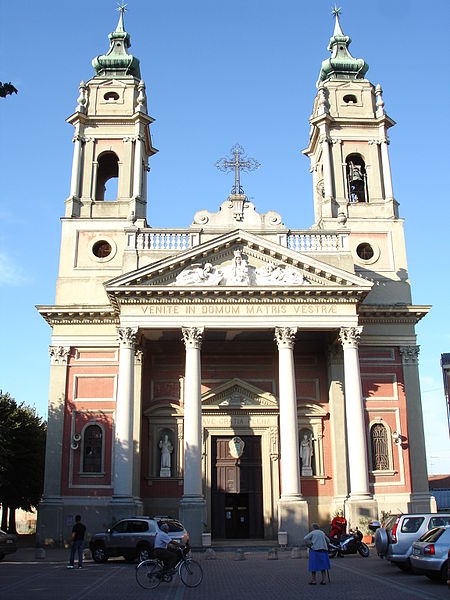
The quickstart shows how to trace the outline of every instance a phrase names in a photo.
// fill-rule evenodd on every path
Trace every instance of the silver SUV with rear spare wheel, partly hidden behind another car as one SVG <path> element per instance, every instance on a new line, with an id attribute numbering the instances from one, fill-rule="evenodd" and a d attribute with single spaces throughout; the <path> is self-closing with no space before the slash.
<path id="1" fill-rule="evenodd" d="M 449 513 L 393 515 L 375 532 L 375 547 L 379 556 L 409 570 L 413 543 L 430 529 L 446 525 L 450 525 Z"/>

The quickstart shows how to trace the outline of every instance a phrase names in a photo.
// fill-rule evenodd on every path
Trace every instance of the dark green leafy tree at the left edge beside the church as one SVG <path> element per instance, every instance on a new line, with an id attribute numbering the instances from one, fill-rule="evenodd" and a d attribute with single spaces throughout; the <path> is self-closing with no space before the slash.
<path id="1" fill-rule="evenodd" d="M 0 392 L 0 501 L 4 518 L 9 508 L 8 531 L 12 533 L 16 532 L 16 509 L 30 510 L 41 498 L 46 432 L 47 424 L 34 408 Z"/>

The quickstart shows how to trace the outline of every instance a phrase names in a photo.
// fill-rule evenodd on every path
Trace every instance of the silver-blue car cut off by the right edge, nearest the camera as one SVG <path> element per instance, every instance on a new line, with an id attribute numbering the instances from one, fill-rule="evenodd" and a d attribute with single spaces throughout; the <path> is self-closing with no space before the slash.
<path id="1" fill-rule="evenodd" d="M 413 571 L 445 583 L 449 553 L 450 526 L 431 529 L 413 544 L 410 559 Z"/>

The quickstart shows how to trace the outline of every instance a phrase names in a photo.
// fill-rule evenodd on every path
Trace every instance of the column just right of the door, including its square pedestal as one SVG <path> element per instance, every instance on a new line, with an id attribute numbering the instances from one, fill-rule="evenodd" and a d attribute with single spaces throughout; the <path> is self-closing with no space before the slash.
<path id="1" fill-rule="evenodd" d="M 308 504 L 301 494 L 294 342 L 297 327 L 276 327 L 280 405 L 281 496 L 278 529 L 287 532 L 290 546 L 303 543 L 308 532 Z"/>

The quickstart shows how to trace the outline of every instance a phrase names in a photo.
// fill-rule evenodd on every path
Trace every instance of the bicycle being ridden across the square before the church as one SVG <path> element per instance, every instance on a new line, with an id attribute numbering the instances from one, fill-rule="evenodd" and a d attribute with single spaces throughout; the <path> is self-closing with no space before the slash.
<path id="1" fill-rule="evenodd" d="M 158 559 L 143 560 L 136 567 L 136 581 L 147 590 L 155 589 L 164 581 L 170 583 L 178 571 L 178 575 L 187 587 L 197 587 L 203 580 L 203 569 L 200 564 L 186 556 L 189 549 L 180 551 L 180 559 L 169 571 L 164 572 L 164 564 Z"/>

